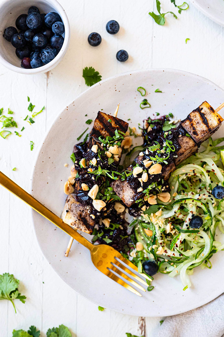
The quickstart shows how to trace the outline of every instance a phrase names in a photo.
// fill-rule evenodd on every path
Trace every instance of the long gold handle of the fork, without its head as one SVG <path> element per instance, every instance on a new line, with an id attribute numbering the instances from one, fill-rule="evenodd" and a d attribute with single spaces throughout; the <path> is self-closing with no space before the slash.
<path id="1" fill-rule="evenodd" d="M 73 239 L 81 243 L 83 246 L 92 250 L 94 245 L 86 240 L 81 234 L 77 233 L 72 227 L 70 227 L 67 223 L 63 222 L 61 218 L 59 218 L 56 214 L 51 212 L 47 207 L 42 205 L 39 201 L 37 201 L 31 194 L 26 192 L 22 187 L 18 186 L 14 181 L 9 179 L 6 175 L 4 175 L 0 171 L 0 185 L 5 187 L 7 190 L 15 194 L 21 200 L 23 200 L 26 204 L 31 206 L 35 211 L 43 215 L 46 219 L 54 223 L 56 226 L 61 228 L 65 233 L 70 235 Z"/>

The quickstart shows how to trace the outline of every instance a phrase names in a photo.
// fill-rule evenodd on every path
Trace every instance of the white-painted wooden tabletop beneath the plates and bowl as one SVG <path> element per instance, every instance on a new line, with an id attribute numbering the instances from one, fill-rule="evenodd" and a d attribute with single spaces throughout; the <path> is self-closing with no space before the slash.
<path id="1" fill-rule="evenodd" d="M 178 14 L 170 0 L 161 0 L 164 11 L 174 11 L 178 20 L 168 14 L 165 26 L 158 26 L 148 15 L 155 8 L 153 0 L 60 2 L 71 24 L 70 47 L 60 65 L 34 76 L 16 74 L 0 66 L 0 108 L 15 112 L 20 129 L 27 124 L 22 137 L 11 135 L 7 140 L 0 139 L 0 170 L 26 190 L 30 188 L 38 147 L 55 117 L 87 89 L 82 78 L 85 66 L 93 66 L 103 79 L 135 69 L 176 68 L 202 75 L 224 88 L 224 28 L 191 4 L 187 11 Z M 106 32 L 106 23 L 111 19 L 120 24 L 117 35 Z M 87 42 L 92 31 L 102 36 L 99 47 L 90 47 Z M 190 38 L 187 44 L 186 38 Z M 127 62 L 116 60 L 120 49 L 128 52 Z M 23 122 L 28 113 L 27 96 L 37 109 L 47 107 L 32 126 Z M 34 142 L 32 152 L 30 141 Z M 13 167 L 17 170 L 12 171 Z M 97 305 L 70 289 L 43 258 L 30 208 L 3 188 L 0 188 L 0 215 L 0 274 L 14 274 L 21 280 L 22 294 L 27 296 L 26 304 L 15 301 L 17 314 L 11 303 L 0 302 L 0 337 L 11 337 L 13 329 L 27 330 L 30 325 L 37 326 L 41 336 L 45 336 L 48 328 L 60 324 L 68 326 L 77 337 L 125 337 L 126 332 L 153 336 L 161 317 L 133 317 L 108 309 L 99 312 Z"/>

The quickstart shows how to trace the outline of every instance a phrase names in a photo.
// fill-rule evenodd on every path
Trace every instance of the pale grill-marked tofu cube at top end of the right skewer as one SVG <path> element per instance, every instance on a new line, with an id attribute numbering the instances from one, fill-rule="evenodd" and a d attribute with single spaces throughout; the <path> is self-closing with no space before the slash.
<path id="1" fill-rule="evenodd" d="M 221 125 L 223 118 L 204 101 L 180 125 L 191 135 L 198 146 L 207 140 Z"/>

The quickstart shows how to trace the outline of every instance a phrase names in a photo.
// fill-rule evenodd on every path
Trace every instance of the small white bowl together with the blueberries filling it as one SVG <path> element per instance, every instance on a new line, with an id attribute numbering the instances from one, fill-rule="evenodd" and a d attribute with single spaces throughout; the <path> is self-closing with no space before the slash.
<path id="1" fill-rule="evenodd" d="M 6 0 L 0 7 L 0 62 L 10 70 L 51 70 L 65 55 L 69 40 L 69 21 L 56 0 Z"/>

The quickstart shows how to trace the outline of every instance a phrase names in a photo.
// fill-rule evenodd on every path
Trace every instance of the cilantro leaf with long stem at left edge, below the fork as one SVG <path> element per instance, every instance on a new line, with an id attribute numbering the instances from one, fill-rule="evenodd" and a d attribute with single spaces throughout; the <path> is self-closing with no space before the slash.
<path id="1" fill-rule="evenodd" d="M 9 300 L 12 302 L 14 309 L 14 299 L 19 299 L 22 303 L 25 303 L 26 299 L 26 296 L 21 296 L 18 292 L 19 283 L 20 281 L 15 279 L 12 274 L 9 275 L 9 273 L 5 273 L 0 275 L 0 300 Z"/>

